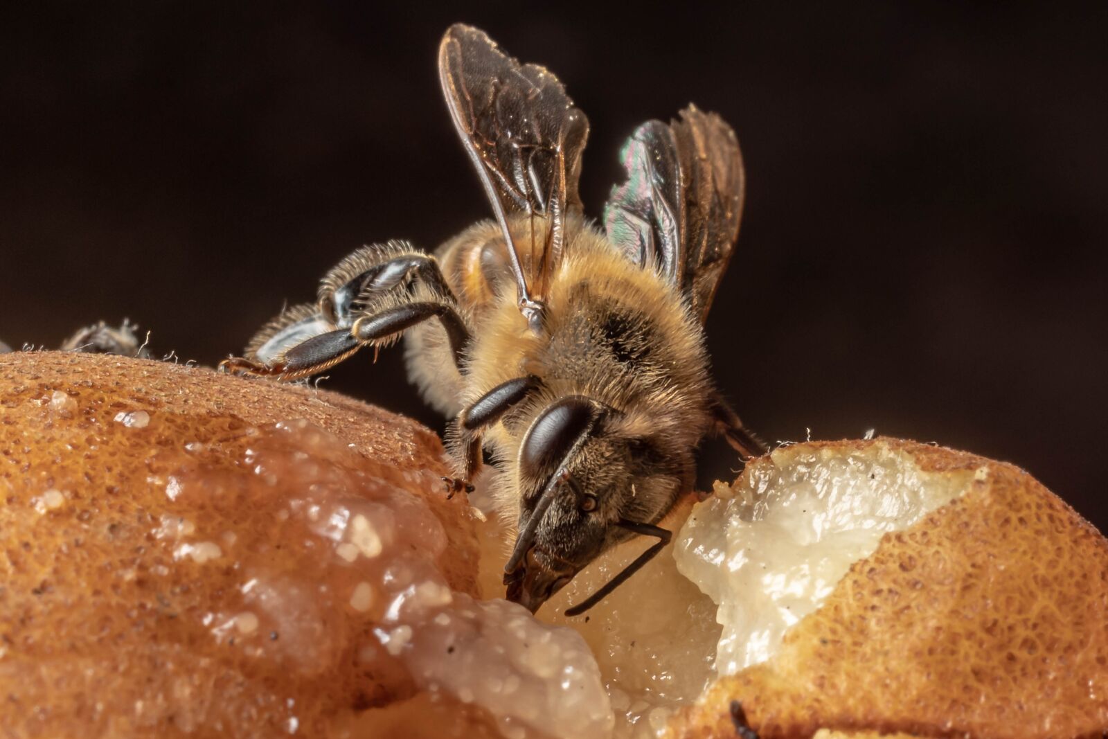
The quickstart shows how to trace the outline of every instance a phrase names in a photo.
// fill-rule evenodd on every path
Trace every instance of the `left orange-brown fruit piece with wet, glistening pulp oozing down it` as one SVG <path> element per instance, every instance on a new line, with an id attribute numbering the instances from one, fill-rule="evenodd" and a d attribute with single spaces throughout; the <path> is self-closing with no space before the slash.
<path id="1" fill-rule="evenodd" d="M 0 386 L 12 736 L 609 735 L 581 636 L 474 598 L 479 522 L 418 425 L 107 357 Z"/>

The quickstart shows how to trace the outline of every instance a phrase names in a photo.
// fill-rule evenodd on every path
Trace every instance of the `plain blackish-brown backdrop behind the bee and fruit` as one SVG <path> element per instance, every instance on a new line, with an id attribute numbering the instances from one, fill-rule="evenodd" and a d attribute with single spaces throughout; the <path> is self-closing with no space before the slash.
<path id="1" fill-rule="evenodd" d="M 439 92 L 453 21 L 592 121 L 737 131 L 742 233 L 707 330 L 769 440 L 906 437 L 1014 462 L 1102 530 L 1108 6 L 145 2 L 0 10 L 0 339 L 124 317 L 215 365 L 355 247 L 491 215 Z M 442 420 L 400 351 L 324 387 Z M 726 448 L 704 476 L 727 476 Z"/>

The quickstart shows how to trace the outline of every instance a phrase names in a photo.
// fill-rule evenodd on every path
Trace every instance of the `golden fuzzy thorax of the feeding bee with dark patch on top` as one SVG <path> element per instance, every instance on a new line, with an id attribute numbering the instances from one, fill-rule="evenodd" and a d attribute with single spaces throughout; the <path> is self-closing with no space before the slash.
<path id="1" fill-rule="evenodd" d="M 542 379 L 542 390 L 484 433 L 501 468 L 493 483 L 500 493 L 495 499 L 513 525 L 520 510 L 520 442 L 531 421 L 558 398 L 583 396 L 615 409 L 606 433 L 628 440 L 649 437 L 661 452 L 681 460 L 691 459 L 710 428 L 704 333 L 679 291 L 653 268 L 626 259 L 584 222 L 573 225 L 572 248 L 544 296 L 542 330 L 527 326 L 516 306 L 515 285 L 506 280 L 492 300 L 472 306 L 473 341 L 464 377 L 451 372 L 440 327 L 428 324 L 409 332 L 412 378 L 447 412 L 468 407 L 507 380 L 525 374 Z M 496 238 L 491 226 L 452 239 L 440 259 L 464 265 L 465 254 Z M 475 284 L 465 273 L 458 278 L 455 285 L 466 278 L 465 284 Z"/>

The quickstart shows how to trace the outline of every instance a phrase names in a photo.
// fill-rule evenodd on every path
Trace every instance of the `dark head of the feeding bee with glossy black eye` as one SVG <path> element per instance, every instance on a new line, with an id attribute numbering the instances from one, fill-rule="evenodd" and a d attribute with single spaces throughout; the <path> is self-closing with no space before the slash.
<path id="1" fill-rule="evenodd" d="M 619 411 L 581 396 L 551 403 L 531 423 L 520 449 L 520 533 L 504 568 L 510 601 L 534 613 L 611 546 L 636 533 L 668 541 L 652 524 L 673 506 L 687 470 L 625 425 Z"/>

